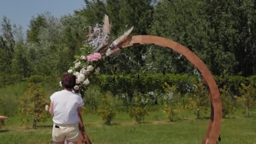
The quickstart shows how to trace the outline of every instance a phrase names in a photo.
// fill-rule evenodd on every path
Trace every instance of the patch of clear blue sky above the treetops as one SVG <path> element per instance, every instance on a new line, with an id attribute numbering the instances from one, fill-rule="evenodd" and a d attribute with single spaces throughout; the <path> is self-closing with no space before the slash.
<path id="1" fill-rule="evenodd" d="M 60 17 L 84 6 L 84 0 L 0 0 L 0 21 L 7 16 L 11 24 L 21 25 L 26 32 L 32 16 L 49 11 Z"/>

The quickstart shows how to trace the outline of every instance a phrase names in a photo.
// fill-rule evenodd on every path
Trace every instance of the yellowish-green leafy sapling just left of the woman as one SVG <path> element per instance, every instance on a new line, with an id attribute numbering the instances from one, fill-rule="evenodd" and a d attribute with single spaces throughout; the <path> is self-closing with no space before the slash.
<path id="1" fill-rule="evenodd" d="M 38 82 L 38 81 L 37 81 Z M 33 128 L 37 128 L 37 123 L 45 121 L 48 117 L 45 111 L 47 99 L 45 98 L 44 89 L 36 83 L 28 83 L 28 89 L 20 98 L 19 112 L 20 115 L 33 115 Z M 22 123 L 26 123 L 29 119 L 23 117 Z"/>

